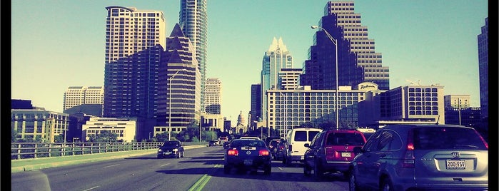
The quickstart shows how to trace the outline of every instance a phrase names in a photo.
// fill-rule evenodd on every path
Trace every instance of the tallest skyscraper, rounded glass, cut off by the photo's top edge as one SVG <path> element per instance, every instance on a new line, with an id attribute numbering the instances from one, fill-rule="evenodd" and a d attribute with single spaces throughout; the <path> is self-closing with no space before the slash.
<path id="1" fill-rule="evenodd" d="M 206 89 L 206 59 L 208 56 L 208 13 L 206 0 L 180 0 L 178 24 L 191 40 L 196 50 L 198 69 L 201 72 L 201 110 L 204 111 Z"/>

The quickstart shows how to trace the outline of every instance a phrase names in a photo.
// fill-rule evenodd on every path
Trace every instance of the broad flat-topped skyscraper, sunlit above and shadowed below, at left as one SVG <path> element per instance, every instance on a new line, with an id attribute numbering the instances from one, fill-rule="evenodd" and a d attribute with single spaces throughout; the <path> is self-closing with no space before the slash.
<path id="1" fill-rule="evenodd" d="M 156 116 L 159 56 L 166 47 L 161 11 L 108 6 L 104 116 Z"/>

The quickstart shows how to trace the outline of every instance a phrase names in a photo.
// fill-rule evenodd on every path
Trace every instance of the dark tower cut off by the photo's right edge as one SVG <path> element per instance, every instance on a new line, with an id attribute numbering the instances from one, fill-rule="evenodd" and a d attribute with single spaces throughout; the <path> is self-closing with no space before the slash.
<path id="1" fill-rule="evenodd" d="M 488 118 L 488 17 L 478 35 L 478 75 L 480 78 L 481 118 Z"/>

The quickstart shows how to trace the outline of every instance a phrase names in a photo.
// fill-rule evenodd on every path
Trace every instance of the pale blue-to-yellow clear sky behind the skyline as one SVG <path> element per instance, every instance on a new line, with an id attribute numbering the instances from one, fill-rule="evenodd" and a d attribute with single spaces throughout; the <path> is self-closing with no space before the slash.
<path id="1" fill-rule="evenodd" d="M 301 68 L 325 0 L 208 0 L 207 77 L 222 82 L 222 115 L 247 118 L 251 84 L 262 58 L 283 38 Z M 488 1 L 356 0 L 375 51 L 390 67 L 390 88 L 440 83 L 444 94 L 469 94 L 480 106 L 477 36 Z M 166 34 L 178 23 L 179 0 L 11 1 L 11 98 L 62 112 L 69 86 L 104 86 L 106 6 L 163 11 Z M 246 119 L 247 120 L 247 119 Z"/>

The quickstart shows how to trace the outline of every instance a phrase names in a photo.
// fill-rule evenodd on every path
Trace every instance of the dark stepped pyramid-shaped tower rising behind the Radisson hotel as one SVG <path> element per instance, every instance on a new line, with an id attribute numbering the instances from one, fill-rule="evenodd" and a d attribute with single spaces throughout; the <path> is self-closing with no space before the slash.
<path id="1" fill-rule="evenodd" d="M 375 52 L 374 40 L 368 38 L 368 29 L 361 25 L 361 15 L 355 13 L 353 1 L 329 1 L 319 26 L 322 29 L 314 36 L 314 46 L 300 79 L 302 86 L 336 88 L 334 63 L 338 48 L 338 86 L 373 82 L 380 90 L 390 88 L 389 69 L 382 66 L 381 54 Z M 337 46 L 323 29 L 336 39 Z"/>

